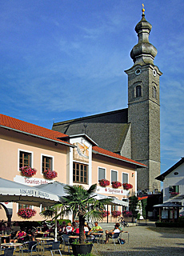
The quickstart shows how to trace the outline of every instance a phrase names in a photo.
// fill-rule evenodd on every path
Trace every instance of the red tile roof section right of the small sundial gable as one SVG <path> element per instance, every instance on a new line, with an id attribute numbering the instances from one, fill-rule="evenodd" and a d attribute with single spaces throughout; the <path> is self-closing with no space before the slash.
<path id="1" fill-rule="evenodd" d="M 125 161 L 125 162 L 130 162 L 130 163 L 133 163 L 133 164 L 138 165 L 138 166 L 146 167 L 146 165 L 144 165 L 141 162 L 134 161 L 130 158 L 125 158 L 122 155 L 115 154 L 115 153 L 113 153 L 109 150 L 104 150 L 104 149 L 102 149 L 98 146 L 93 146 L 93 150 L 98 152 L 99 154 L 103 154 L 103 155 L 109 156 L 111 158 L 118 158 L 119 160 L 122 160 L 122 161 Z"/>

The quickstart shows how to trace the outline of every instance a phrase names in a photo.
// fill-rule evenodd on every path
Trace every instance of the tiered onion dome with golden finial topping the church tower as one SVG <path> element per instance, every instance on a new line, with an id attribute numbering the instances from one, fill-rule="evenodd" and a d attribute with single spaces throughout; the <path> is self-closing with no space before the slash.
<path id="1" fill-rule="evenodd" d="M 154 64 L 154 57 L 157 55 L 157 49 L 149 42 L 152 26 L 146 21 L 144 12 L 145 10 L 142 8 L 142 20 L 135 26 L 135 31 L 138 34 L 138 44 L 131 50 L 130 57 L 135 64 Z"/>

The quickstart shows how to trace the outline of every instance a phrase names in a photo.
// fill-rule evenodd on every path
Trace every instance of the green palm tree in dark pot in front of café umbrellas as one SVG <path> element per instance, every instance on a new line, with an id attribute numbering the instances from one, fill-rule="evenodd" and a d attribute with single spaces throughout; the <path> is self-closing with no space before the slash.
<path id="1" fill-rule="evenodd" d="M 61 210 L 58 216 L 72 213 L 74 216 L 78 216 L 79 219 L 79 242 L 78 244 L 72 245 L 74 255 L 90 253 L 93 245 L 85 242 L 84 223 L 86 219 L 90 219 L 91 221 L 102 220 L 105 205 L 112 202 L 110 198 L 95 198 L 96 188 L 97 184 L 90 186 L 88 190 L 81 185 L 66 185 L 64 187 L 66 196 L 62 197 Z M 58 205 L 52 206 L 51 208 L 54 210 L 54 207 L 58 209 Z"/>

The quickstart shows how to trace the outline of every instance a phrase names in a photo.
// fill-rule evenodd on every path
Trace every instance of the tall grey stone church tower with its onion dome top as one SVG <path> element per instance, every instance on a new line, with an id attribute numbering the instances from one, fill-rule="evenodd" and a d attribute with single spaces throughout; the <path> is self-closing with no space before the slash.
<path id="1" fill-rule="evenodd" d="M 131 126 L 131 158 L 146 164 L 138 169 L 138 190 L 160 190 L 156 178 L 160 174 L 160 101 L 159 77 L 162 72 L 154 66 L 157 49 L 149 42 L 152 26 L 142 20 L 135 26 L 138 44 L 130 57 L 134 65 L 128 75 L 128 122 Z"/>

